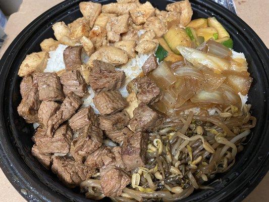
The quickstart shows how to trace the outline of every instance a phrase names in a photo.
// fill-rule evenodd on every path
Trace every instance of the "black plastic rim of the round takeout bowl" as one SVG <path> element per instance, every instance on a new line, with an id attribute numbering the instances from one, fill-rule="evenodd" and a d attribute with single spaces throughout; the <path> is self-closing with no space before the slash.
<path id="1" fill-rule="evenodd" d="M 4 119 L 4 111 L 10 109 L 4 109 L 4 100 L 7 99 L 5 96 L 4 86 L 7 81 L 7 75 L 13 74 L 13 78 L 16 76 L 16 72 L 11 73 L 9 70 L 14 62 L 14 60 L 18 59 L 16 56 L 18 55 L 22 45 L 27 41 L 29 37 L 37 30 L 41 24 L 45 21 L 51 21 L 52 19 L 57 18 L 62 12 L 67 11 L 69 9 L 78 7 L 78 3 L 80 0 L 67 0 L 64 1 L 55 7 L 52 7 L 39 17 L 37 17 L 34 21 L 32 21 L 23 31 L 14 39 L 11 45 L 8 47 L 7 51 L 3 55 L 0 61 L 0 86 L 2 87 L 0 90 L 0 166 L 12 183 L 12 185 L 17 189 L 17 191 L 28 201 L 85 201 L 84 196 L 80 196 L 80 194 L 71 193 L 72 191 L 63 193 L 60 192 L 57 187 L 55 190 L 51 190 L 50 187 L 41 183 L 38 178 L 31 178 L 29 175 L 29 171 L 22 167 L 23 164 L 22 158 L 18 158 L 16 156 L 17 150 L 14 145 L 12 137 L 9 134 L 12 133 L 12 129 L 9 127 L 7 122 L 9 120 Z M 101 0 L 101 1 L 93 1 L 98 3 L 108 3 L 111 1 Z M 164 1 L 164 4 L 172 3 L 175 1 Z M 269 102 L 269 59 L 268 59 L 268 49 L 265 44 L 261 41 L 261 39 L 257 36 L 257 34 L 238 16 L 227 10 L 226 8 L 214 3 L 210 0 L 190 0 L 192 6 L 198 6 L 201 8 L 206 8 L 208 11 L 216 14 L 217 18 L 223 18 L 229 23 L 231 26 L 235 27 L 238 31 L 243 33 L 245 38 L 248 39 L 249 44 L 255 49 L 258 58 L 256 60 L 261 61 L 263 67 L 261 69 L 265 74 L 264 79 L 264 93 L 266 96 L 265 104 L 268 105 Z M 228 30 L 229 31 L 229 30 Z M 268 106 L 266 107 L 266 112 L 264 112 L 267 116 Z M 248 171 L 249 176 L 243 176 L 240 173 L 237 174 L 238 177 L 235 182 L 230 187 L 230 190 L 233 194 L 227 194 L 226 190 L 220 190 L 216 193 L 211 193 L 209 197 L 206 191 L 202 191 L 200 195 L 197 196 L 193 194 L 189 197 L 192 201 L 200 201 L 201 197 L 206 198 L 206 201 L 215 202 L 215 201 L 241 201 L 246 197 L 260 182 L 260 180 L 264 177 L 269 169 L 269 158 L 268 158 L 268 148 L 269 145 L 269 129 L 268 129 L 268 118 L 262 120 L 264 122 L 264 128 L 262 133 L 266 136 L 263 139 L 263 143 L 258 150 L 257 157 L 263 156 L 260 160 L 259 164 L 256 165 L 255 170 Z M 94 201 L 87 199 L 87 201 Z M 185 201 L 181 200 L 181 201 Z M 189 200 L 188 200 L 189 201 Z"/>

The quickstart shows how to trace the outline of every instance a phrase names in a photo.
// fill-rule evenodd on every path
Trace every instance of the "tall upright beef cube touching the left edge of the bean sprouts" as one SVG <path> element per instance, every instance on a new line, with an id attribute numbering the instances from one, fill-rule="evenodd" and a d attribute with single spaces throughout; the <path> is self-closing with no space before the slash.
<path id="1" fill-rule="evenodd" d="M 128 171 L 144 166 L 146 163 L 147 133 L 133 133 L 123 140 L 122 160 Z"/>

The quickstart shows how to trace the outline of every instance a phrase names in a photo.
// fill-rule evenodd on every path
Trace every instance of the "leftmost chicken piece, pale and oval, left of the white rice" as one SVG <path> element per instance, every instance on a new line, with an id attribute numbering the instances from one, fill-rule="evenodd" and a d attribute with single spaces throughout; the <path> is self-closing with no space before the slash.
<path id="1" fill-rule="evenodd" d="M 27 55 L 20 66 L 18 75 L 23 77 L 35 72 L 43 72 L 47 66 L 48 53 L 38 52 Z"/>

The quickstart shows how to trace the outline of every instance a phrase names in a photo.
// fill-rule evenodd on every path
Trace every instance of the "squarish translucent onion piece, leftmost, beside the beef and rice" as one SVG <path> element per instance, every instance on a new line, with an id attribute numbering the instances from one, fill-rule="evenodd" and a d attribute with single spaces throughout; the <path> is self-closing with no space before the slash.
<path id="1" fill-rule="evenodd" d="M 160 63 L 160 65 L 149 74 L 149 77 L 162 89 L 167 89 L 177 81 L 176 76 L 171 72 L 166 61 Z"/>

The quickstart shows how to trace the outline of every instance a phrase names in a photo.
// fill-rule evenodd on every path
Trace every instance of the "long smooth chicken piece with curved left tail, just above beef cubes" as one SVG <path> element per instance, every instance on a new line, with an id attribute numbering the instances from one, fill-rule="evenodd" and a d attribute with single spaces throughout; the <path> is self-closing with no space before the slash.
<path id="1" fill-rule="evenodd" d="M 100 47 L 91 55 L 88 65 L 92 66 L 92 61 L 100 60 L 113 65 L 122 65 L 128 62 L 128 55 L 125 51 L 114 46 Z"/>

